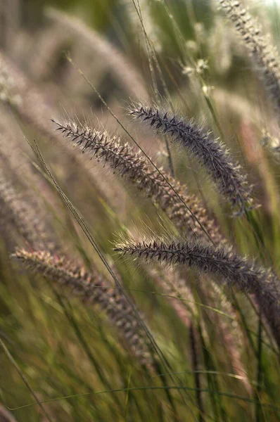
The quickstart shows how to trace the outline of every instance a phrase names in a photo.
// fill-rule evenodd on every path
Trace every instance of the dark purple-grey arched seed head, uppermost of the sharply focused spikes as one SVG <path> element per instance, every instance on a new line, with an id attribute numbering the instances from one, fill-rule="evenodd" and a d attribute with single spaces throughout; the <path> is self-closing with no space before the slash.
<path id="1" fill-rule="evenodd" d="M 239 212 L 251 205 L 251 187 L 246 177 L 241 174 L 240 166 L 234 164 L 229 151 L 211 132 L 201 129 L 192 120 L 170 116 L 166 111 L 141 103 L 132 104 L 129 114 L 186 147 L 204 165 L 222 196 L 237 207 Z"/>

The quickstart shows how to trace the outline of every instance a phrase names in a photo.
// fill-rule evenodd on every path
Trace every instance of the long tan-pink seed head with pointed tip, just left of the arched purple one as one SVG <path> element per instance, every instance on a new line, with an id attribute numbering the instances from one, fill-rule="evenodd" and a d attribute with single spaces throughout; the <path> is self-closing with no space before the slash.
<path id="1" fill-rule="evenodd" d="M 198 221 L 205 226 L 211 238 L 215 242 L 223 241 L 222 234 L 215 222 L 208 217 L 205 207 L 194 195 L 186 193 L 186 186 L 160 170 L 158 173 L 151 166 L 146 157 L 140 151 L 135 151 L 128 143 L 121 143 L 115 136 L 111 137 L 106 132 L 98 132 L 87 126 L 78 127 L 75 122 L 61 124 L 53 120 L 58 126 L 57 130 L 66 138 L 70 139 L 82 153 L 87 153 L 91 158 L 107 162 L 110 167 L 117 170 L 120 177 L 134 184 L 139 191 L 143 191 L 148 198 L 157 203 L 172 222 L 184 233 L 203 237 L 196 219 L 186 210 L 186 203 Z M 178 198 L 170 185 L 175 189 Z"/>

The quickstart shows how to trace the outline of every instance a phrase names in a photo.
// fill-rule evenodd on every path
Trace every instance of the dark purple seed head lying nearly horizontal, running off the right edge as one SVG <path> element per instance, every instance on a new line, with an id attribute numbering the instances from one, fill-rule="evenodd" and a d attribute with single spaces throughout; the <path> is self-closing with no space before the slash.
<path id="1" fill-rule="evenodd" d="M 272 271 L 226 247 L 215 248 L 209 243 L 143 241 L 120 244 L 115 250 L 144 260 L 195 267 L 203 274 L 219 276 L 230 288 L 255 295 L 280 345 L 280 281 Z"/>

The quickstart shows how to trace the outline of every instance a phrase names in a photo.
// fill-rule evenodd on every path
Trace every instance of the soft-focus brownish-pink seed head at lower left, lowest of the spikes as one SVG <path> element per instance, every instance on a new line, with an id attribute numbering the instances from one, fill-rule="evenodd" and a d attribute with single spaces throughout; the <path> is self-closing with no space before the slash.
<path id="1" fill-rule="evenodd" d="M 122 293 L 108 287 L 108 282 L 101 274 L 73 267 L 65 257 L 53 256 L 44 250 L 39 252 L 18 250 L 12 257 L 27 269 L 69 288 L 70 293 L 79 296 L 85 304 L 99 305 L 117 328 L 132 354 L 141 364 L 152 366 L 153 358 L 146 342 L 146 333 L 139 326 Z"/>

